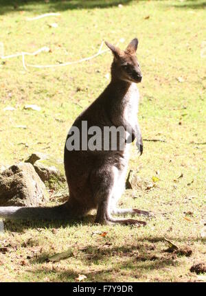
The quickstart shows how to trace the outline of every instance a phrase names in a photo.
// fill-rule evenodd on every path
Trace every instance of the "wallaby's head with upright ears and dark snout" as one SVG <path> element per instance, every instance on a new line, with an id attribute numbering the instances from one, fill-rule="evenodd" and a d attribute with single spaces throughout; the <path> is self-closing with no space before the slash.
<path id="1" fill-rule="evenodd" d="M 106 42 L 111 49 L 114 60 L 111 67 L 112 79 L 124 80 L 127 82 L 141 82 L 141 70 L 137 60 L 136 52 L 138 40 L 133 39 L 125 50 L 119 49 L 115 45 Z"/>

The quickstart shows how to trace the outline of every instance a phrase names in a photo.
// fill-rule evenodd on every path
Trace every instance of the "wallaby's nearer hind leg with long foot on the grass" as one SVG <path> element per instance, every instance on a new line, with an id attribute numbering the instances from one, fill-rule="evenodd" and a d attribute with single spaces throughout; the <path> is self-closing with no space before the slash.
<path id="1" fill-rule="evenodd" d="M 106 225 L 122 224 L 122 225 L 146 225 L 145 221 L 134 219 L 117 219 L 111 216 L 113 206 L 113 194 L 115 193 L 115 186 L 118 181 L 117 168 L 111 167 L 98 170 L 94 176 L 95 199 L 98 201 L 98 213 L 95 223 Z"/>

